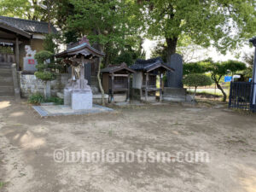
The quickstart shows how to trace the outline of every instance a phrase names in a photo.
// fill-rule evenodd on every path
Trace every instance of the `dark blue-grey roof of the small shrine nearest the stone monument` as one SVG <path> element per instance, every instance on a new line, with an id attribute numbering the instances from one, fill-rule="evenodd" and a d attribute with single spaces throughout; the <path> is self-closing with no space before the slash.
<path id="1" fill-rule="evenodd" d="M 167 71 L 171 71 L 171 72 L 175 71 L 172 67 L 167 66 L 160 57 L 156 57 L 149 60 L 139 59 L 130 68 L 135 71 L 145 71 L 145 72 L 150 72 L 158 68 L 164 68 Z"/>

